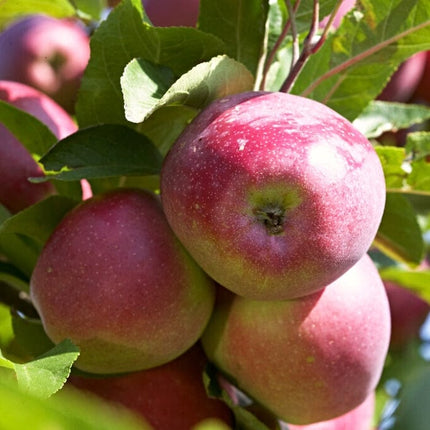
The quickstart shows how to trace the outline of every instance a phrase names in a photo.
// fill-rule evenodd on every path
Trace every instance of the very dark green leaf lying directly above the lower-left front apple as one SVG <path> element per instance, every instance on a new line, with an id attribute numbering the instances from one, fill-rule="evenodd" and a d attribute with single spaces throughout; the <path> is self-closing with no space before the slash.
<path id="1" fill-rule="evenodd" d="M 107 124 L 67 136 L 40 162 L 47 177 L 74 181 L 157 174 L 162 157 L 144 135 L 123 125 Z"/>

